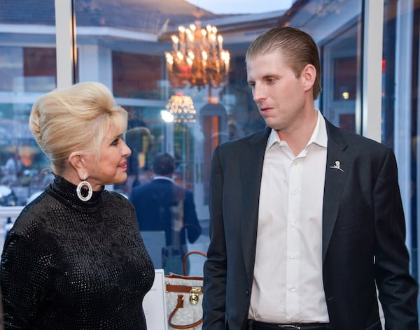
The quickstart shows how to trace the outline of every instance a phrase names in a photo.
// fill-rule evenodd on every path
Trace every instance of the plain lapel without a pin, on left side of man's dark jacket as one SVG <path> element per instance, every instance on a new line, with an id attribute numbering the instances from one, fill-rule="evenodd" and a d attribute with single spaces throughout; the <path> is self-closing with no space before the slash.
<path id="1" fill-rule="evenodd" d="M 271 129 L 266 128 L 253 135 L 241 150 L 241 238 L 242 253 L 249 285 L 252 285 L 255 247 L 257 241 L 258 205 L 265 146 Z"/>

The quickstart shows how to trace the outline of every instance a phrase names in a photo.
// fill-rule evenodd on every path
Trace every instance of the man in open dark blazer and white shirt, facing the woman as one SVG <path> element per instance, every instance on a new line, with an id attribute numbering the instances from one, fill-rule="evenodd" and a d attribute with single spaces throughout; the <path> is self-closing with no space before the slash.
<path id="1" fill-rule="evenodd" d="M 267 127 L 214 150 L 205 330 L 418 329 L 390 148 L 339 129 L 311 36 L 276 27 L 246 52 Z M 378 296 L 377 296 L 378 292 Z"/>

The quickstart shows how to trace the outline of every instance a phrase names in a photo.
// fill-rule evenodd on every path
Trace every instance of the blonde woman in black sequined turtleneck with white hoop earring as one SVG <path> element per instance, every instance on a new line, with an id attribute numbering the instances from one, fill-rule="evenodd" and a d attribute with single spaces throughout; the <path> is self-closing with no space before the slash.
<path id="1" fill-rule="evenodd" d="M 127 180 L 126 125 L 127 112 L 97 82 L 34 103 L 29 126 L 55 180 L 6 238 L 6 329 L 146 329 L 153 264 L 132 204 L 104 189 Z"/>

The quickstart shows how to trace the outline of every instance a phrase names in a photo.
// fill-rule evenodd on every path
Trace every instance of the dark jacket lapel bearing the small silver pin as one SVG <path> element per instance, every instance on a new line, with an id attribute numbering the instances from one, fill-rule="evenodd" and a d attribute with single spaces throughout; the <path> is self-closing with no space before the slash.
<path id="1" fill-rule="evenodd" d="M 339 202 L 342 198 L 347 175 L 351 165 L 351 157 L 344 151 L 346 142 L 337 127 L 325 120 L 327 124 L 328 146 L 327 164 L 325 168 L 325 186 L 323 196 L 323 228 L 322 228 L 322 260 L 330 244 L 332 230 L 337 220 Z"/>

